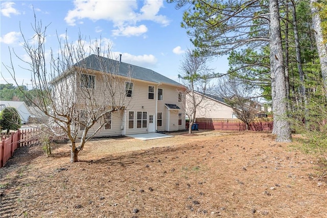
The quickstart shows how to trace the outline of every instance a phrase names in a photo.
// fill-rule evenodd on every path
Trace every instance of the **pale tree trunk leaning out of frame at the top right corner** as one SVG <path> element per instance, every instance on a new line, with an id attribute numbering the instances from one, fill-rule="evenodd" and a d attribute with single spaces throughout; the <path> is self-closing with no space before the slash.
<path id="1" fill-rule="evenodd" d="M 325 91 L 327 90 L 327 49 L 325 43 L 323 43 L 323 35 L 321 29 L 321 19 L 318 13 L 318 9 L 315 4 L 317 4 L 317 0 L 310 0 L 310 8 L 312 13 L 312 26 L 315 31 L 315 38 L 317 44 L 317 51 L 320 60 L 320 68 L 322 75 L 322 82 Z"/>

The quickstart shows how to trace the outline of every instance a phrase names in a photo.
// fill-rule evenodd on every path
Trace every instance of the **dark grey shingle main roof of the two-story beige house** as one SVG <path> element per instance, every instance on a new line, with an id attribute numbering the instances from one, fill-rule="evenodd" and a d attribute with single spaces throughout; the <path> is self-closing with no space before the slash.
<path id="1" fill-rule="evenodd" d="M 181 85 L 180 83 L 163 76 L 153 70 L 138 67 L 132 64 L 112 60 L 109 58 L 90 55 L 85 59 L 77 62 L 74 66 L 83 67 L 91 70 L 117 74 L 120 76 L 141 79 L 155 83 L 167 83 L 171 85 Z"/>

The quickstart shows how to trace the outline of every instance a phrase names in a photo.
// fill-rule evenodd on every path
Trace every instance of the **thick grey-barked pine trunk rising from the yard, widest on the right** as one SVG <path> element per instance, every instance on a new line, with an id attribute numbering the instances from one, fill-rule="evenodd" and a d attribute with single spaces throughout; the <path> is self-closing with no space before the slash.
<path id="1" fill-rule="evenodd" d="M 274 119 L 276 120 L 276 131 L 278 142 L 290 142 L 291 131 L 290 125 L 287 121 L 287 96 L 286 96 L 286 79 L 284 69 L 284 58 L 282 48 L 281 24 L 279 23 L 279 8 L 278 0 L 269 1 L 270 11 L 270 73 L 271 78 L 274 78 L 275 94 L 273 98 L 273 105 L 276 106 L 274 112 L 276 113 Z"/>

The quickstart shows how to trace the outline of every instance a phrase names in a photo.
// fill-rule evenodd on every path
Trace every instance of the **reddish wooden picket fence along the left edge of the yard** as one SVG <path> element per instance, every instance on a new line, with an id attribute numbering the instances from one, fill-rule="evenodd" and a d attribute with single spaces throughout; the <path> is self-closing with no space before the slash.
<path id="1" fill-rule="evenodd" d="M 18 147 L 39 143 L 37 137 L 39 133 L 39 129 L 19 129 L 15 133 L 11 133 L 8 137 L 2 135 L 0 145 L 0 168 L 5 165 Z"/>

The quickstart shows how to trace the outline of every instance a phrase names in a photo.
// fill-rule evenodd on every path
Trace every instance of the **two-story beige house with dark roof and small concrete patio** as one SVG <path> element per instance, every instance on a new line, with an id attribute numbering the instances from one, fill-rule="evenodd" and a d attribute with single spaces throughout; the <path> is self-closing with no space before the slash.
<path id="1" fill-rule="evenodd" d="M 97 64 L 99 61 L 101 64 L 108 64 L 108 66 L 99 66 Z M 126 93 L 128 105 L 126 105 L 125 110 L 111 113 L 110 117 L 106 118 L 109 119 L 108 125 L 104 125 L 96 137 L 185 129 L 185 119 L 183 119 L 185 113 L 181 110 L 184 108 L 185 95 L 178 91 L 182 86 L 180 83 L 150 69 L 97 55 L 86 57 L 76 63 L 75 67 L 83 66 L 83 69 L 87 69 L 87 73 L 84 71 L 81 73 L 85 79 L 83 85 L 91 84 L 88 88 L 92 89 L 94 93 L 99 93 L 105 85 L 100 72 L 106 71 L 108 75 L 111 75 L 110 70 L 106 70 L 111 68 L 110 64 L 116 66 L 115 70 L 119 72 L 115 73 L 114 76 L 119 77 L 120 81 L 124 82 L 120 86 L 125 88 L 124 93 Z M 69 78 L 74 77 L 72 75 L 74 72 L 62 76 L 57 81 L 69 80 Z M 76 79 L 71 81 L 73 82 L 66 84 L 71 84 L 72 88 L 67 85 L 67 89 L 73 90 L 75 85 L 81 85 L 75 84 L 78 81 Z M 56 80 L 53 82 L 54 86 L 58 83 Z M 89 130 L 88 134 L 92 134 L 92 131 Z"/>

